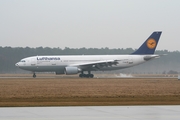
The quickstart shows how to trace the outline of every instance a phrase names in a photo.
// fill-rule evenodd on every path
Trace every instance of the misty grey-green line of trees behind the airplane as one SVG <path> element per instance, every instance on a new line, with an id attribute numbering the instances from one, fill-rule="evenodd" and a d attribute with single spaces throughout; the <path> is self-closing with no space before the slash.
<path id="1" fill-rule="evenodd" d="M 15 66 L 20 59 L 29 56 L 38 55 L 120 55 L 131 54 L 135 49 L 132 48 L 50 48 L 50 47 L 0 47 L 0 73 L 22 73 Z M 156 54 L 167 54 L 159 59 L 149 61 L 128 69 L 122 69 L 116 72 L 128 73 L 168 73 L 169 71 L 180 71 L 180 52 L 168 50 L 157 50 Z"/>

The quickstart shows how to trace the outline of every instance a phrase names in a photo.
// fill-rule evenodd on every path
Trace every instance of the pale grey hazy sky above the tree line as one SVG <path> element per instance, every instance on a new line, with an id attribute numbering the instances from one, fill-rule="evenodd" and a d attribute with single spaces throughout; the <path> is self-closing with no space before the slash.
<path id="1" fill-rule="evenodd" d="M 180 51 L 180 0 L 0 0 L 0 46 Z"/>

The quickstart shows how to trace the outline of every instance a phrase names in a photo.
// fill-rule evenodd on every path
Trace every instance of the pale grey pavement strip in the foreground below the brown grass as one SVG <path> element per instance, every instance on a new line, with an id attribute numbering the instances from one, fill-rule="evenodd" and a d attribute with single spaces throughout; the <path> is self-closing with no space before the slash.
<path id="1" fill-rule="evenodd" d="M 180 106 L 5 107 L 0 120 L 179 120 Z"/>

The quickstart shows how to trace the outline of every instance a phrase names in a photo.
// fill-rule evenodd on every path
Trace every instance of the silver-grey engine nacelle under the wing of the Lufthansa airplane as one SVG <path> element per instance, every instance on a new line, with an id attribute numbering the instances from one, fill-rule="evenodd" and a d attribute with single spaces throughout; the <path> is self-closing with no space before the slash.
<path id="1" fill-rule="evenodd" d="M 66 75 L 78 74 L 80 71 L 78 67 L 65 67 L 64 70 Z"/>

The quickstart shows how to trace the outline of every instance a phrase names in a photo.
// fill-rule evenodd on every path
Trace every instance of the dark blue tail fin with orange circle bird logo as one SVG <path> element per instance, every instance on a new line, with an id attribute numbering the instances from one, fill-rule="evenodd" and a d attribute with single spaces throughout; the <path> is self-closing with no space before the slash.
<path id="1" fill-rule="evenodd" d="M 161 36 L 161 31 L 153 32 L 148 39 L 137 49 L 134 55 L 142 55 L 142 54 L 154 54 L 156 46 L 158 44 L 159 38 Z"/>

